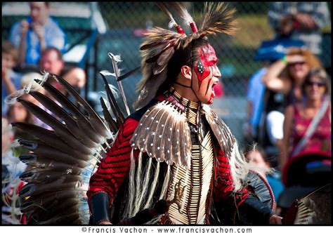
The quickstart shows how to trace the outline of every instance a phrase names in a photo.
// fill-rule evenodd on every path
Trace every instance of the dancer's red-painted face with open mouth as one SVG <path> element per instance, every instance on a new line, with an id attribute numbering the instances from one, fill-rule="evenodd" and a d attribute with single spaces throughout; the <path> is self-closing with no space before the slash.
<path id="1" fill-rule="evenodd" d="M 200 102 L 211 105 L 215 97 L 214 86 L 221 76 L 221 72 L 216 66 L 218 58 L 216 58 L 214 48 L 211 45 L 197 49 L 200 53 L 200 60 L 194 64 L 191 86 Z"/>

